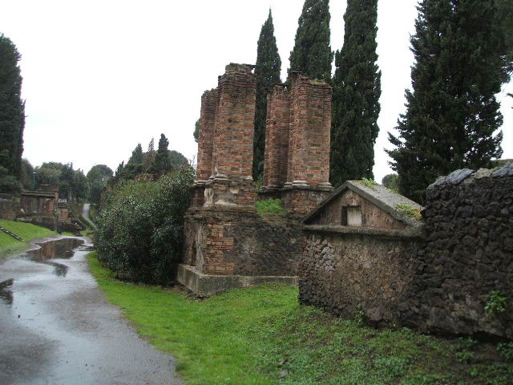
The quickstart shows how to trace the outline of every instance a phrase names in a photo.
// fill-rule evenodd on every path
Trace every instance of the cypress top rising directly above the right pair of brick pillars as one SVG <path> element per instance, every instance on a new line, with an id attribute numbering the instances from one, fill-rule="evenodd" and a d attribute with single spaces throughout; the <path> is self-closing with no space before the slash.
<path id="1" fill-rule="evenodd" d="M 329 19 L 329 0 L 305 0 L 290 52 L 289 71 L 301 71 L 311 79 L 331 79 Z"/>

